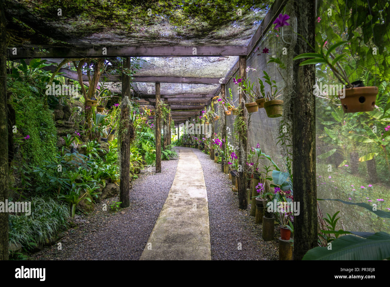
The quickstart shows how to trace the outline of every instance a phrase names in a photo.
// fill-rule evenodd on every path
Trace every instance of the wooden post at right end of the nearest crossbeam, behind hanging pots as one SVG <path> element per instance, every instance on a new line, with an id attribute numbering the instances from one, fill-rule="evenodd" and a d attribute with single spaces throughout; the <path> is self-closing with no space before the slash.
<path id="1" fill-rule="evenodd" d="M 239 57 L 239 76 L 241 79 L 246 78 L 246 57 Z M 245 98 L 243 95 L 242 89 L 240 89 L 239 93 L 239 106 L 241 108 L 241 112 L 237 115 L 241 119 L 245 119 L 246 121 L 246 109 L 245 109 Z M 237 131 L 234 131 L 237 132 Z M 248 129 L 246 129 L 245 134 L 242 131 L 239 132 L 239 151 L 238 151 L 238 164 L 241 166 L 242 171 L 239 172 L 238 177 L 238 199 L 239 199 L 239 208 L 247 209 L 248 207 L 248 199 L 246 197 L 246 139 L 248 135 Z"/>

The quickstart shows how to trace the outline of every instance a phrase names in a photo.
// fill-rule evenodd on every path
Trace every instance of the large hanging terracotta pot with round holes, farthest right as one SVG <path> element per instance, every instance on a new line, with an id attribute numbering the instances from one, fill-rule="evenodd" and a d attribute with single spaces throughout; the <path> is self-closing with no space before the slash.
<path id="1" fill-rule="evenodd" d="M 340 98 L 344 113 L 374 111 L 378 87 L 350 88 L 345 89 L 344 93 L 345 98 Z"/>

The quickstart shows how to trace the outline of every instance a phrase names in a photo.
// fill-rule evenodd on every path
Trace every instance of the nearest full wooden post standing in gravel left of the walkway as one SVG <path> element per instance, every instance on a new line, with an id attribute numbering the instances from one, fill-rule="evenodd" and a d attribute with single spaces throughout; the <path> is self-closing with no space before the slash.
<path id="1" fill-rule="evenodd" d="M 123 68 L 130 68 L 130 57 L 123 59 Z M 121 104 L 121 122 L 126 123 L 128 132 L 120 134 L 121 137 L 121 184 L 120 201 L 121 207 L 130 205 L 130 128 L 129 128 L 129 96 L 130 96 L 130 77 L 123 73 L 122 75 L 122 104 Z"/>

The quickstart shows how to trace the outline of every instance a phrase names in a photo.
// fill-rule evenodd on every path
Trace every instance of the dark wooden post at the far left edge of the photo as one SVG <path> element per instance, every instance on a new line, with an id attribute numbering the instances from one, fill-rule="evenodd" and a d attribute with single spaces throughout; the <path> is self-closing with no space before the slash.
<path id="1" fill-rule="evenodd" d="M 0 201 L 8 200 L 7 45 L 4 4 L 0 1 Z M 0 212 L 0 260 L 8 260 L 8 212 Z"/>

